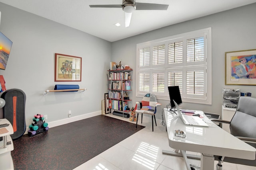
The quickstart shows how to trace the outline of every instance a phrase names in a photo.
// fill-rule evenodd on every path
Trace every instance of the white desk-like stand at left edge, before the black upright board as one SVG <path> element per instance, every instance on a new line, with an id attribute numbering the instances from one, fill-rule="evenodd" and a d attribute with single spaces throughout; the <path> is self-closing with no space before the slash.
<path id="1" fill-rule="evenodd" d="M 5 127 L 8 132 L 0 134 L 0 137 L 3 137 L 3 140 L 0 141 L 0 169 L 1 170 L 13 170 L 13 162 L 11 151 L 13 150 L 12 138 L 10 135 L 13 134 L 12 124 L 7 119 L 0 119 L 0 124 L 9 123 L 10 125 Z M 2 129 L 2 128 L 0 128 Z M 6 142 L 10 141 L 10 145 L 6 145 Z"/>

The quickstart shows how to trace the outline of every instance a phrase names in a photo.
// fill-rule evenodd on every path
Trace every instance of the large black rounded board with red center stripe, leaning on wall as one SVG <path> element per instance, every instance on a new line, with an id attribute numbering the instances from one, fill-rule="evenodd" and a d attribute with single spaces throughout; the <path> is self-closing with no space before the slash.
<path id="1" fill-rule="evenodd" d="M 6 90 L 1 98 L 5 100 L 3 117 L 12 124 L 14 133 L 12 139 L 21 137 L 26 131 L 25 103 L 26 94 L 20 89 Z"/>

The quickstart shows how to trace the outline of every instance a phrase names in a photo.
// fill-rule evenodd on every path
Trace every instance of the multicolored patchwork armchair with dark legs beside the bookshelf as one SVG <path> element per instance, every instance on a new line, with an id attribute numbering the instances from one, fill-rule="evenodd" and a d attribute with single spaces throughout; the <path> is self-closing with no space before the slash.
<path id="1" fill-rule="evenodd" d="M 136 102 L 136 106 L 135 106 L 135 113 L 137 113 L 136 128 L 137 128 L 137 124 L 138 124 L 139 113 L 141 113 L 141 123 L 142 123 L 143 114 L 149 114 L 149 115 L 152 115 L 152 131 L 154 131 L 153 116 L 154 116 L 155 123 L 156 123 L 156 117 L 155 117 L 156 107 L 161 106 L 161 105 L 162 104 L 160 104 L 156 101 L 156 96 L 152 93 L 146 94 L 143 97 L 141 102 Z"/>

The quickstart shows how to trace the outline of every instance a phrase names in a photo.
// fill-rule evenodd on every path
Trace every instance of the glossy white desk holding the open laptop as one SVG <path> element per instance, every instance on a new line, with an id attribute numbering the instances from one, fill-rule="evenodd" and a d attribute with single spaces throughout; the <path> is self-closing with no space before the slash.
<path id="1" fill-rule="evenodd" d="M 164 109 L 169 146 L 182 151 L 189 170 L 190 167 L 188 167 L 184 150 L 201 153 L 202 170 L 214 170 L 214 155 L 248 160 L 255 159 L 256 149 L 254 147 L 218 127 L 202 111 L 198 112 L 204 116 L 203 119 L 209 127 L 184 125 L 178 115 L 168 112 L 166 108 Z M 186 138 L 176 137 L 174 135 L 175 129 L 184 131 Z"/>

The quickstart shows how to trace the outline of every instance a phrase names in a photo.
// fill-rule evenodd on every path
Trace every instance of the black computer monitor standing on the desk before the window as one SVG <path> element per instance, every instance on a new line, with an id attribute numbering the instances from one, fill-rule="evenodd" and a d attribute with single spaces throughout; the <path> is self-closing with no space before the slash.
<path id="1" fill-rule="evenodd" d="M 170 105 L 171 108 L 174 108 L 173 100 L 178 104 L 182 104 L 181 96 L 180 96 L 180 88 L 179 86 L 168 86 L 169 96 L 170 96 Z"/>

